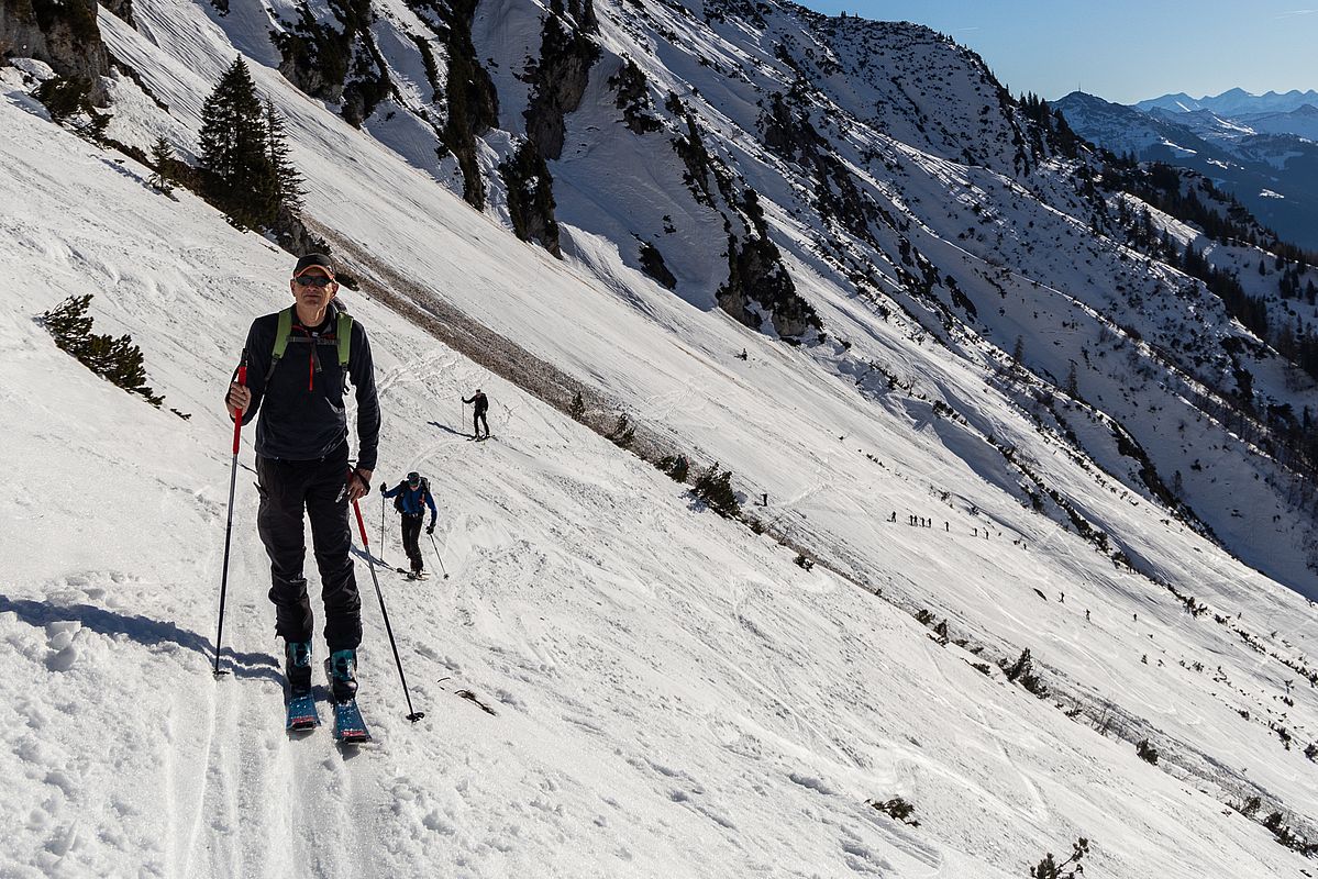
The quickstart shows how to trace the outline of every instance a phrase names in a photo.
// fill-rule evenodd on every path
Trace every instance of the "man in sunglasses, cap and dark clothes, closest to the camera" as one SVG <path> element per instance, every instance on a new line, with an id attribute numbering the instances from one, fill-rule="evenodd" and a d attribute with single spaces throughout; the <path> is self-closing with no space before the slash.
<path id="1" fill-rule="evenodd" d="M 246 339 L 248 385 L 229 385 L 229 416 L 256 423 L 261 493 L 257 531 L 270 556 L 275 633 L 294 696 L 311 692 L 311 601 L 303 576 L 303 515 L 320 569 L 324 638 L 336 700 L 357 691 L 361 598 L 348 552 L 348 506 L 370 490 L 380 443 L 370 343 L 360 323 L 333 300 L 339 293 L 330 257 L 298 260 L 289 282 L 294 304 L 257 318 Z M 357 398 L 357 461 L 349 464 L 348 382 Z"/>

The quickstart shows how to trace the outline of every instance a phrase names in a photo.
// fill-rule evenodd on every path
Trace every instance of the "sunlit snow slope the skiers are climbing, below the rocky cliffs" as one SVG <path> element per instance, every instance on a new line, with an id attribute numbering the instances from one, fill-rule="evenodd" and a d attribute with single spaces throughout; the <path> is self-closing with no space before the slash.
<path id="1" fill-rule="evenodd" d="M 1257 791 L 1304 821 L 1311 767 L 1265 723 L 1285 716 L 1297 742 L 1311 739 L 1313 691 L 1282 706 L 1290 669 L 1023 510 L 982 432 L 915 395 L 847 390 L 829 362 L 663 298 L 581 236 L 583 260 L 634 294 L 616 297 L 277 94 L 303 132 L 312 210 L 341 235 L 673 436 L 735 449 L 771 493 L 767 515 L 899 604 L 919 597 L 986 658 L 1035 647 L 1054 693 L 1083 696 L 1082 713 L 981 673 L 979 658 L 938 646 L 908 613 L 822 565 L 803 571 L 345 294 L 378 360 L 381 474 L 431 477 L 451 579 L 381 584 L 427 718 L 402 718 L 358 559 L 362 698 L 382 742 L 339 754 L 323 731 L 289 741 L 249 444 L 225 627 L 233 675 L 210 676 L 229 463 L 217 402 L 249 319 L 286 300 L 289 257 L 187 194 L 153 194 L 145 169 L 50 125 L 7 84 L 0 281 L 22 291 L 0 298 L 0 399 L 21 463 L 0 499 L 7 876 L 1020 876 L 1079 836 L 1094 843 L 1091 875 L 1300 875 L 1302 859 L 1223 803 Z M 349 175 L 314 150 L 372 162 Z M 372 186 L 410 186 L 414 200 Z M 190 419 L 54 348 L 33 316 L 75 291 L 96 294 L 98 331 L 132 332 L 152 385 Z M 1268 650 L 1292 656 L 1318 633 L 1294 593 L 1097 488 L 944 349 L 895 329 L 866 344 L 903 381 L 961 397 L 1017 439 L 1114 532 L 1147 532 L 1164 573 L 1242 610 Z M 733 361 L 734 345 L 751 361 Z M 456 434 L 456 398 L 476 385 L 496 401 L 500 436 L 481 445 Z M 884 523 L 890 509 L 902 523 Z M 908 510 L 949 527 L 911 528 Z M 382 551 L 398 556 L 391 534 Z M 1124 622 L 1132 608 L 1137 626 Z M 1118 726 L 1147 723 L 1170 771 L 1095 731 L 1085 712 L 1098 700 Z M 898 795 L 919 828 L 866 805 Z"/>

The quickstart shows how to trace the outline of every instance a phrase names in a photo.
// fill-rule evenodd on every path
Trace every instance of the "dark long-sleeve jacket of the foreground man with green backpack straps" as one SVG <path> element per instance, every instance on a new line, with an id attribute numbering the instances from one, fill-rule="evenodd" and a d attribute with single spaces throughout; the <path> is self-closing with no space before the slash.
<path id="1" fill-rule="evenodd" d="M 326 310 L 319 327 L 303 327 L 294 312 L 293 333 L 274 372 L 270 360 L 279 327 L 279 312 L 257 318 L 248 332 L 248 387 L 252 405 L 243 416 L 256 423 L 256 453 L 287 461 L 314 461 L 348 441 L 348 414 L 344 407 L 351 380 L 357 397 L 357 467 L 376 469 L 380 445 L 380 399 L 376 395 L 376 368 L 366 331 L 352 322 L 348 376 L 339 366 L 332 344 L 339 303 Z M 295 341 L 299 340 L 299 341 Z M 307 344 L 306 340 L 312 340 Z M 320 344 L 315 344 L 319 340 Z M 266 381 L 266 373 L 270 373 Z"/>

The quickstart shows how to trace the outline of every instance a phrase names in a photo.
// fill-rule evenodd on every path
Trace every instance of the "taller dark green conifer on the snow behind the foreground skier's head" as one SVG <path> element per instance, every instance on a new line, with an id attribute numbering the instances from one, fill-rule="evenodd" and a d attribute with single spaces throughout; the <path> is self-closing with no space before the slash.
<path id="1" fill-rule="evenodd" d="M 274 221 L 278 184 L 256 83 L 239 57 L 202 108 L 203 192 L 239 227 Z"/>

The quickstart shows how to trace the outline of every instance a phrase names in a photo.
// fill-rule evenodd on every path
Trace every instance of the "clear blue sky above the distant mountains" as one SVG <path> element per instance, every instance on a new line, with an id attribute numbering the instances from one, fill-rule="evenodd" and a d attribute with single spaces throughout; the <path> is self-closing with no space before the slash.
<path id="1" fill-rule="evenodd" d="M 1318 0 L 808 0 L 915 21 L 974 49 L 1012 94 L 1131 104 L 1184 91 L 1318 88 Z"/>

